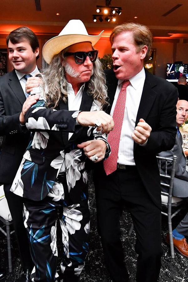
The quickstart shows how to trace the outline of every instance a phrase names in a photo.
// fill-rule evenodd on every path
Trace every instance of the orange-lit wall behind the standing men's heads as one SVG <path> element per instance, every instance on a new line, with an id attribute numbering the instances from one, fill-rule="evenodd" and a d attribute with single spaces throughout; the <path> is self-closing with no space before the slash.
<path id="1" fill-rule="evenodd" d="M 13 29 L 18 28 L 21 25 L 13 24 L 1 24 L 0 25 L 0 48 L 7 48 L 6 46 L 6 36 Z M 58 35 L 63 29 L 62 26 L 39 26 L 39 25 L 27 25 L 32 29 L 39 39 L 40 45 L 40 57 L 37 61 L 39 69 L 44 66 L 44 61 L 42 59 L 42 48 L 47 40 Z M 87 28 L 88 33 L 92 35 L 99 34 L 102 30 L 101 28 Z M 95 48 L 99 50 L 99 57 L 102 58 L 105 54 L 112 54 L 111 44 L 109 41 L 109 34 L 111 30 L 106 29 L 100 38 L 100 40 L 95 45 Z M 181 43 L 180 43 L 181 42 Z M 165 78 L 166 63 L 172 63 L 174 61 L 183 61 L 183 63 L 188 63 L 188 43 L 182 42 L 181 39 L 175 38 L 154 38 L 153 48 L 156 48 L 156 75 Z M 8 70 L 12 70 L 11 65 L 8 63 Z"/>

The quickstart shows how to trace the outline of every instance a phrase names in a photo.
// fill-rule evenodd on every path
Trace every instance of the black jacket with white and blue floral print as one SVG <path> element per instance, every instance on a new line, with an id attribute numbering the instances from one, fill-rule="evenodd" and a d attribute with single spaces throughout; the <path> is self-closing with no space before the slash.
<path id="1" fill-rule="evenodd" d="M 86 88 L 86 87 L 85 87 Z M 97 111 L 100 105 L 83 91 L 81 111 Z M 94 138 L 106 141 L 106 134 L 91 126 L 76 125 L 79 111 L 68 111 L 62 100 L 57 110 L 48 109 L 41 97 L 25 115 L 31 141 L 24 153 L 11 191 L 34 201 L 50 196 L 54 201 L 63 197 L 63 187 L 57 176 L 66 173 L 70 198 L 79 202 L 87 196 L 86 156 L 77 144 Z M 68 134 L 74 133 L 68 140 Z"/>

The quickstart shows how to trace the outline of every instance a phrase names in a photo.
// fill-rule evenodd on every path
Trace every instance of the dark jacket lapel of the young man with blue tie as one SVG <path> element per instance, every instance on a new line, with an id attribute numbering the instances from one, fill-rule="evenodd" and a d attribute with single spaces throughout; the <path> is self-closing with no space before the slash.
<path id="1" fill-rule="evenodd" d="M 12 89 L 12 91 L 14 92 L 17 99 L 19 100 L 19 102 L 21 103 L 21 105 L 23 105 L 26 98 L 22 86 L 18 80 L 18 76 L 15 73 L 15 70 L 10 72 L 8 84 Z"/>

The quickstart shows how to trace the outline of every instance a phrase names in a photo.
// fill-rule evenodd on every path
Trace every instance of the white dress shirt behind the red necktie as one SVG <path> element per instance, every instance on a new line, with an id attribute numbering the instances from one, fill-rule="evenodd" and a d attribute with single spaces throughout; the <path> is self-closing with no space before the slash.
<path id="1" fill-rule="evenodd" d="M 131 134 L 135 129 L 138 107 L 144 87 L 144 67 L 136 76 L 132 77 L 129 81 L 130 84 L 127 86 L 127 97 L 118 151 L 118 164 L 121 165 L 135 165 L 133 156 L 134 141 L 131 137 Z M 113 111 L 122 87 L 122 83 L 123 80 L 118 80 L 118 86 L 110 112 L 111 116 L 113 116 Z"/>

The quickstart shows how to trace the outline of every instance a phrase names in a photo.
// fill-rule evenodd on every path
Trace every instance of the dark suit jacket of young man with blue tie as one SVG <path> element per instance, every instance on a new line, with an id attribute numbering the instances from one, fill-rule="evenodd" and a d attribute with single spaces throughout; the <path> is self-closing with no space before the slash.
<path id="1" fill-rule="evenodd" d="M 23 133 L 19 122 L 25 100 L 15 70 L 0 77 L 0 135 L 6 136 L 0 154 L 1 183 L 12 183 L 28 144 L 30 133 Z"/>

